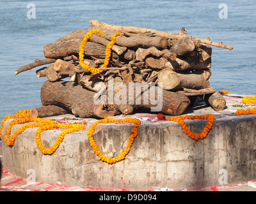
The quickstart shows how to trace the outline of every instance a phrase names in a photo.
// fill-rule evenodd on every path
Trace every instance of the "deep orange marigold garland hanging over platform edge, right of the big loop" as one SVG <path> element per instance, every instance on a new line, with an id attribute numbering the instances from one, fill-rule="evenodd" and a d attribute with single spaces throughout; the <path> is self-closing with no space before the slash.
<path id="1" fill-rule="evenodd" d="M 202 133 L 193 133 L 188 129 L 188 126 L 185 124 L 184 120 L 195 120 L 195 119 L 207 119 L 207 124 L 204 128 L 204 130 L 202 131 Z M 167 118 L 168 121 L 173 121 L 173 122 L 178 122 L 184 133 L 186 133 L 186 135 L 188 135 L 189 137 L 198 140 L 199 138 L 202 139 L 204 138 L 207 133 L 210 131 L 210 129 L 212 128 L 212 123 L 215 120 L 214 115 L 212 114 L 206 114 L 206 115 L 186 115 L 186 116 L 175 116 L 175 117 L 168 117 Z"/>

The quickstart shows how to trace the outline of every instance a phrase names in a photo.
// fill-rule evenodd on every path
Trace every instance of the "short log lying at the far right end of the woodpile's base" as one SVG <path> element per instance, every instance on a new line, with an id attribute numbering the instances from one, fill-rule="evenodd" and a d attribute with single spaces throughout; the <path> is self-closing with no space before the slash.
<path id="1" fill-rule="evenodd" d="M 201 98 L 216 111 L 223 110 L 226 106 L 225 98 L 218 91 L 214 94 L 205 94 Z"/>

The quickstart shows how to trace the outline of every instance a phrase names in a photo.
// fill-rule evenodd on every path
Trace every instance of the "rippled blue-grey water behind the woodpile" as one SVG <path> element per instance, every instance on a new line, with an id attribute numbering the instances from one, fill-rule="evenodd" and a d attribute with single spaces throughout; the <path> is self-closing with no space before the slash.
<path id="1" fill-rule="evenodd" d="M 28 18 L 29 3 L 35 18 Z M 219 4 L 228 8 L 220 18 Z M 148 27 L 188 36 L 223 41 L 233 50 L 212 47 L 210 84 L 216 91 L 255 96 L 256 2 L 246 1 L 0 1 L 0 120 L 18 110 L 42 106 L 40 88 L 46 78 L 36 69 L 14 75 L 15 69 L 44 59 L 43 48 L 88 20 Z"/>

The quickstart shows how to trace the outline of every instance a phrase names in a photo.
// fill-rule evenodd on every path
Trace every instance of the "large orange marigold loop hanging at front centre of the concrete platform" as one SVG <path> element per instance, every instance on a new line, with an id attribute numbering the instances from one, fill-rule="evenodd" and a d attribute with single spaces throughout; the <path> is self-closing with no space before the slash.
<path id="1" fill-rule="evenodd" d="M 102 152 L 100 152 L 99 147 L 97 145 L 97 143 L 95 143 L 95 140 L 93 138 L 93 133 L 95 131 L 95 126 L 97 126 L 97 124 L 100 123 L 108 123 L 108 122 L 132 122 L 134 123 L 134 128 L 132 129 L 132 134 L 129 136 L 129 140 L 127 143 L 127 146 L 125 147 L 125 149 L 122 151 L 122 153 L 120 155 L 118 155 L 117 157 L 111 158 L 111 157 L 106 157 L 102 154 Z M 139 119 L 132 119 L 132 118 L 125 118 L 125 119 L 102 119 L 102 120 L 97 120 L 97 122 L 95 122 L 94 124 L 92 124 L 91 128 L 88 129 L 88 138 L 89 138 L 89 142 L 93 148 L 93 151 L 95 152 L 95 154 L 97 154 L 97 156 L 99 156 L 99 158 L 108 163 L 108 164 L 112 164 L 112 163 L 116 163 L 118 161 L 121 161 L 125 158 L 125 156 L 129 153 L 131 146 L 132 146 L 132 142 L 134 140 L 134 138 L 138 135 L 138 129 L 137 127 L 140 125 L 140 120 Z"/>

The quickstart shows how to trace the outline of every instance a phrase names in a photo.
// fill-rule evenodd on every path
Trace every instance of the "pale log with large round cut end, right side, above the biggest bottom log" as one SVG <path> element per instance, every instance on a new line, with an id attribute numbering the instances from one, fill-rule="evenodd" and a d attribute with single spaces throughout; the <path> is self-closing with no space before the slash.
<path id="1" fill-rule="evenodd" d="M 181 87 L 188 89 L 205 89 L 209 88 L 209 78 L 211 77 L 210 69 L 175 72 L 172 69 L 165 68 L 158 73 L 158 83 L 163 89 L 177 91 Z"/>

